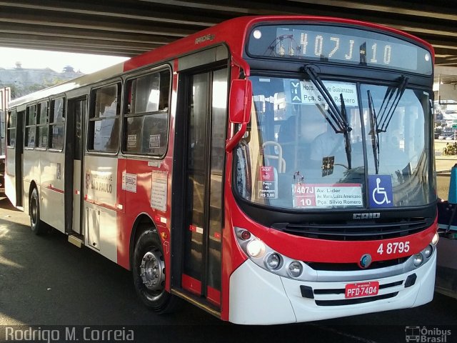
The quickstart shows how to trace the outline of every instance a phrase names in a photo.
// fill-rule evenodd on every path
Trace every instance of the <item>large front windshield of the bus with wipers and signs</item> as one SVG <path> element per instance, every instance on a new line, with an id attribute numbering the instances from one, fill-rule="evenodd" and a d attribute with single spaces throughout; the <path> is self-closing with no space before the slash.
<path id="1" fill-rule="evenodd" d="M 329 101 L 316 82 L 251 80 L 251 122 L 236 149 L 235 188 L 243 199 L 297 211 L 433 202 L 427 92 L 404 80 L 319 79 Z"/>

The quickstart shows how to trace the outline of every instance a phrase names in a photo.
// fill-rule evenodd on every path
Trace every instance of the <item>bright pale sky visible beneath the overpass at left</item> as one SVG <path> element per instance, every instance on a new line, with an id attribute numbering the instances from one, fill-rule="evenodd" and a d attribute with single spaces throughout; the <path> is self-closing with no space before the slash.
<path id="1" fill-rule="evenodd" d="M 60 72 L 64 69 L 64 66 L 72 66 L 75 71 L 90 74 L 127 59 L 127 57 L 117 56 L 0 47 L 0 68 L 5 69 L 16 68 L 16 61 L 20 61 L 24 69 L 44 69 L 49 67 L 54 71 Z"/>

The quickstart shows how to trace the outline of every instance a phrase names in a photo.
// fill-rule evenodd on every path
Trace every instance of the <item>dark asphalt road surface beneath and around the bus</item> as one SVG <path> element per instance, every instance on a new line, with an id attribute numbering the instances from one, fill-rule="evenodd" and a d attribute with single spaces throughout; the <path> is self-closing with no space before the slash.
<path id="1" fill-rule="evenodd" d="M 268 327 L 221 322 L 187 303 L 175 314 L 159 316 L 136 299 L 128 271 L 90 249 L 74 247 L 64 234 L 34 236 L 29 217 L 11 207 L 7 199 L 0 199 L 0 342 L 6 341 L 6 328 L 15 325 L 41 329 L 80 325 L 81 334 L 84 327 L 116 325 L 124 331 L 133 329 L 134 342 L 151 343 L 390 343 L 406 342 L 407 326 L 425 326 L 435 334 L 436 329 L 449 329 L 451 334 L 446 334 L 444 342 L 457 342 L 457 300 L 435 294 L 433 302 L 413 309 Z M 89 342 L 84 340 L 87 337 L 76 337 L 79 342 Z M 6 338 L 11 342 L 11 337 Z M 110 342 L 127 341 L 124 337 Z M 62 334 L 58 342 L 69 340 Z"/>

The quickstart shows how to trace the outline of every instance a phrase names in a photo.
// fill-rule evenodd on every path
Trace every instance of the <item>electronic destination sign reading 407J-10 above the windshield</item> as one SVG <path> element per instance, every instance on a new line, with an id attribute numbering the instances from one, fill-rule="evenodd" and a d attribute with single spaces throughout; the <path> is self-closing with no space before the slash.
<path id="1" fill-rule="evenodd" d="M 256 26 L 249 35 L 248 54 L 432 73 L 431 54 L 423 47 L 388 34 L 344 26 Z"/>

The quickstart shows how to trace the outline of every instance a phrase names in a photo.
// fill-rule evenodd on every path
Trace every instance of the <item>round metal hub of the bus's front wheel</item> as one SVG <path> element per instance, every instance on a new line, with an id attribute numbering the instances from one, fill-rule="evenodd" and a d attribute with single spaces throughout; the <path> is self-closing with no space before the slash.
<path id="1" fill-rule="evenodd" d="M 141 279 L 147 289 L 161 291 L 165 281 L 164 261 L 159 252 L 146 252 L 140 264 Z"/>

